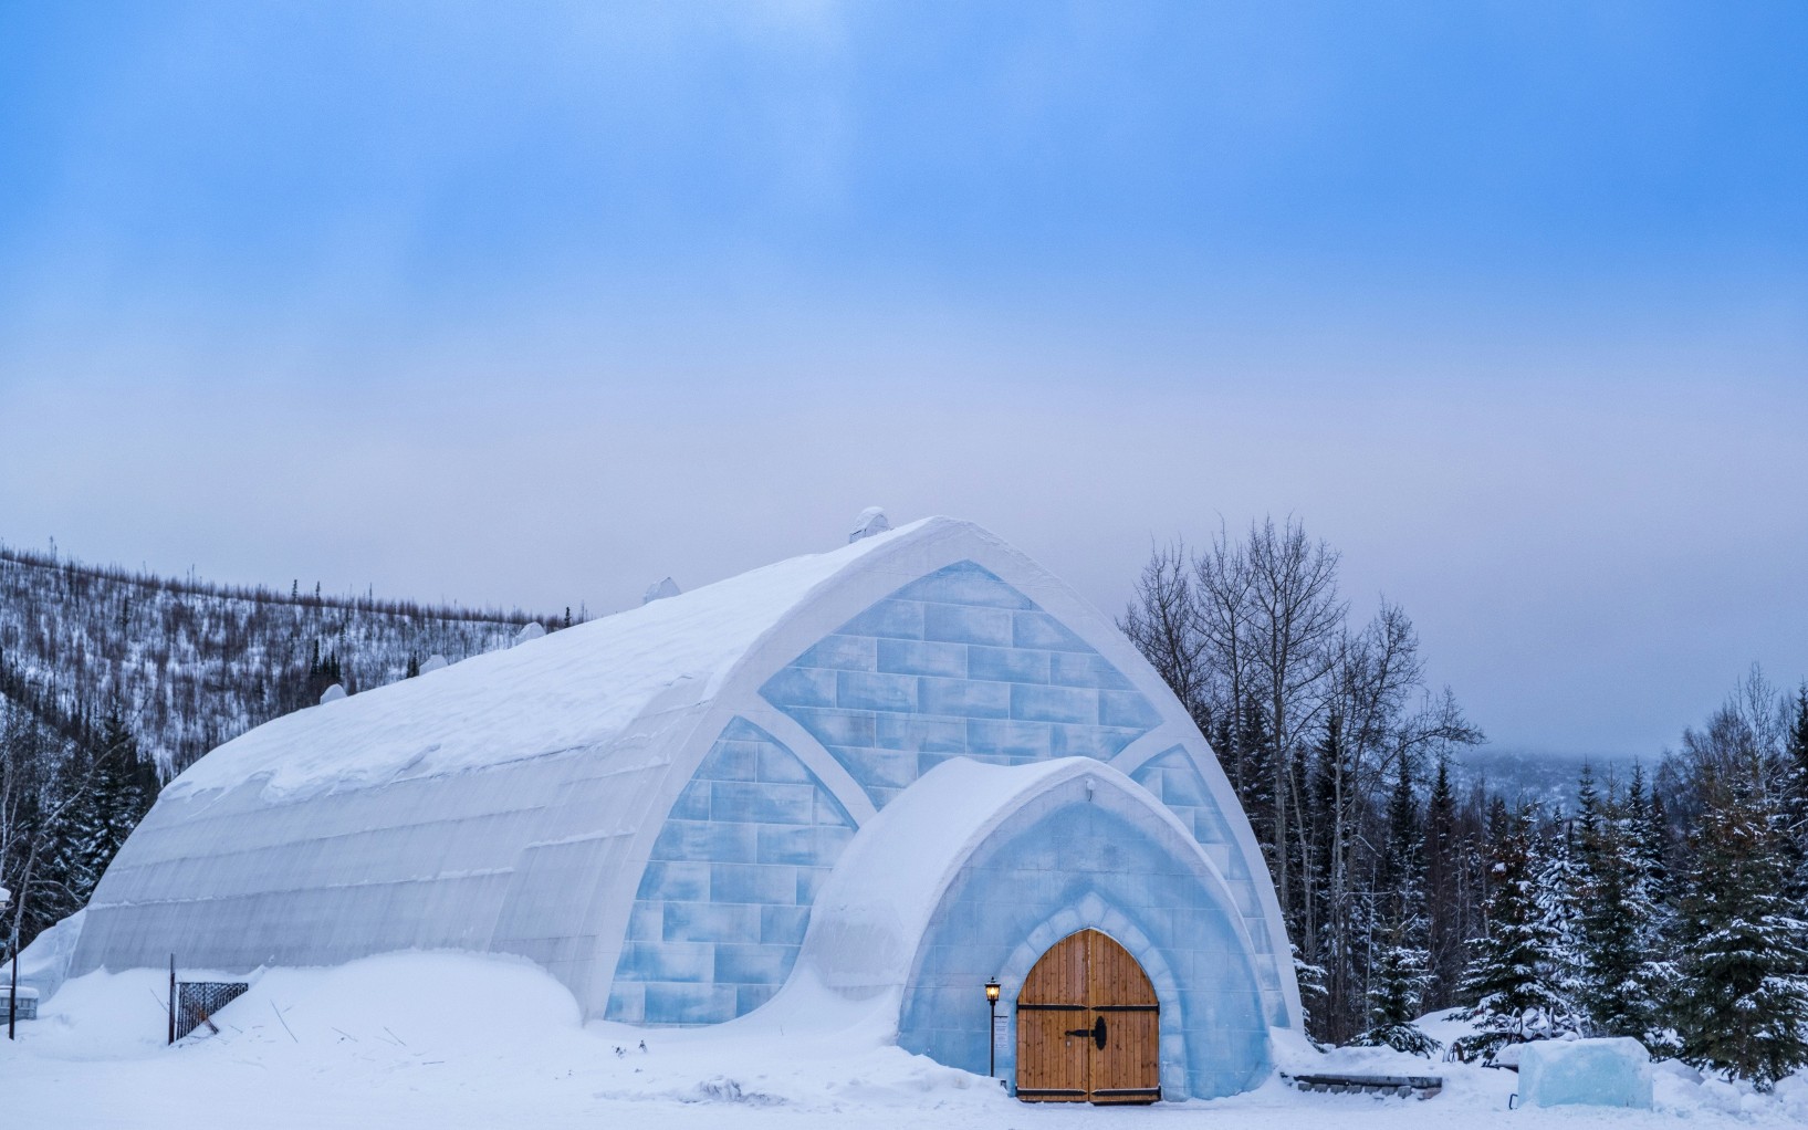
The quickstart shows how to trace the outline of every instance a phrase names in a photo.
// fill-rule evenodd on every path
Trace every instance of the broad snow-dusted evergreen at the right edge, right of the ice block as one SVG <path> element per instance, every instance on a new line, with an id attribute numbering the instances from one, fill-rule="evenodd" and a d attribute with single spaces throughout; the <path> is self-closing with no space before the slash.
<path id="1" fill-rule="evenodd" d="M 1687 1063 L 1770 1090 L 1808 1067 L 1808 924 L 1784 893 L 1784 817 L 1756 759 L 1709 772 L 1701 799 L 1671 1016 Z"/>

